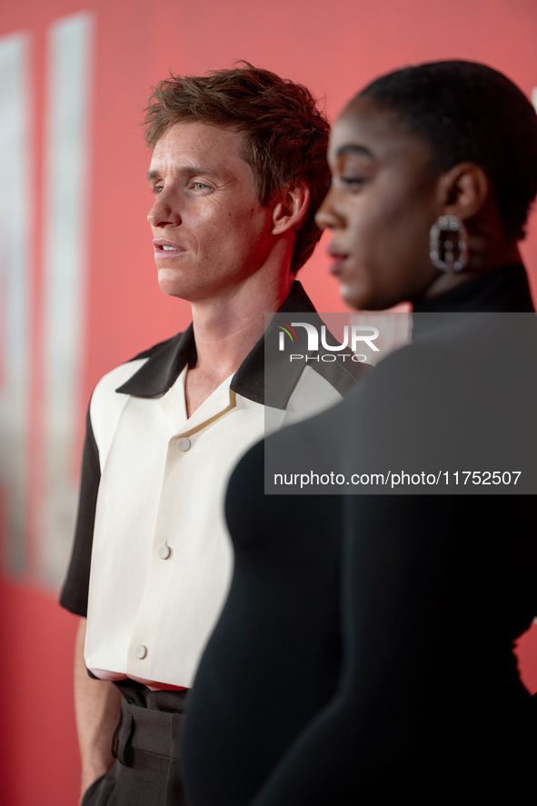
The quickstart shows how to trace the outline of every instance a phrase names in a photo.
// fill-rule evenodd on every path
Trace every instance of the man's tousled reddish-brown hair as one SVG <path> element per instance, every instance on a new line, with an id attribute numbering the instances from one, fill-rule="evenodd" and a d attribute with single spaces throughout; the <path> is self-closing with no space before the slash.
<path id="1" fill-rule="evenodd" d="M 310 203 L 294 244 L 293 272 L 321 237 L 314 214 L 330 180 L 326 161 L 329 124 L 306 87 L 240 62 L 205 75 L 170 75 L 158 84 L 145 110 L 145 142 L 154 148 L 169 127 L 195 121 L 243 134 L 241 156 L 254 173 L 259 201 L 290 185 L 310 189 Z"/>

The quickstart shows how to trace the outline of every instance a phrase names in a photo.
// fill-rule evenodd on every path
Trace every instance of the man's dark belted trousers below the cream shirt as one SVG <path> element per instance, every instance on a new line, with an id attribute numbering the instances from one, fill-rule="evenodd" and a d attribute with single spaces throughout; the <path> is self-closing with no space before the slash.
<path id="1" fill-rule="evenodd" d="M 178 757 L 187 692 L 120 688 L 115 761 L 86 791 L 82 806 L 188 806 Z"/>

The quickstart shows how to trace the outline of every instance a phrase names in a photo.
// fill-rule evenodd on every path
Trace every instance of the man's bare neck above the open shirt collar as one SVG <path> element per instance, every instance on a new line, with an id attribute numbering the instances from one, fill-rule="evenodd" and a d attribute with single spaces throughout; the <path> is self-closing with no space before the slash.
<path id="1" fill-rule="evenodd" d="M 264 333 L 264 313 L 278 311 L 291 290 L 293 275 L 277 275 L 272 282 L 260 276 L 228 296 L 192 305 L 197 360 L 185 381 L 188 415 L 234 374 Z"/>

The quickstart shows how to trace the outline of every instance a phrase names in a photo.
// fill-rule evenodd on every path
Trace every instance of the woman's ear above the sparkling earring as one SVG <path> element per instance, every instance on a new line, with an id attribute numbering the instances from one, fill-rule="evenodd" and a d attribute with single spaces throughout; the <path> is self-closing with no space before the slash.
<path id="1" fill-rule="evenodd" d="M 481 212 L 489 197 L 487 174 L 474 163 L 453 165 L 439 180 L 439 201 L 444 215 L 467 221 Z"/>

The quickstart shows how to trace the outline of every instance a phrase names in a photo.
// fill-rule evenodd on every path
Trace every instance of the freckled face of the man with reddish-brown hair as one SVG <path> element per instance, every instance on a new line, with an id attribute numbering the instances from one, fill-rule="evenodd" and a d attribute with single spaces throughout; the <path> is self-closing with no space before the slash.
<path id="1" fill-rule="evenodd" d="M 265 263 L 272 211 L 257 199 L 240 145 L 241 134 L 194 122 L 174 124 L 155 145 L 147 218 L 164 294 L 189 302 L 231 297 Z"/>

